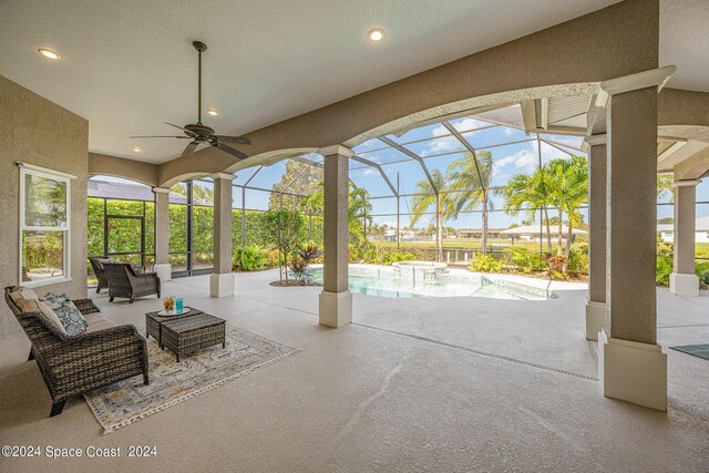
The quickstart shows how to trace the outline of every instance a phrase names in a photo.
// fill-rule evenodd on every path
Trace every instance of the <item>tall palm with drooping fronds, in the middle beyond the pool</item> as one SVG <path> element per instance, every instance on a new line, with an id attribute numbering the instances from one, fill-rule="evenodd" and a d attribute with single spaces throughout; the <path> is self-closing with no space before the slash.
<path id="1" fill-rule="evenodd" d="M 493 209 L 490 198 L 492 172 L 492 153 L 489 151 L 482 151 L 476 156 L 473 156 L 471 152 L 466 152 L 463 157 L 448 166 L 450 189 L 459 191 L 453 198 L 455 213 L 475 210 L 479 206 L 482 207 L 483 255 L 487 254 L 487 214 Z"/>

